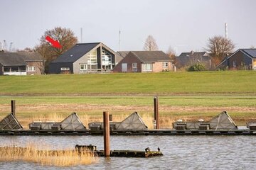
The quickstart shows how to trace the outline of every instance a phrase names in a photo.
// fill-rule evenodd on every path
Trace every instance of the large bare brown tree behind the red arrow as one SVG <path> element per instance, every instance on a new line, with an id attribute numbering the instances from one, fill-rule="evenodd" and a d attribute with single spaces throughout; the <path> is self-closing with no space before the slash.
<path id="1" fill-rule="evenodd" d="M 54 40 L 60 42 L 61 48 L 55 48 L 48 41 L 46 36 L 50 36 Z M 66 52 L 70 47 L 73 47 L 78 42 L 78 38 L 72 30 L 68 28 L 55 27 L 52 30 L 46 30 L 41 36 L 40 45 L 35 47 L 36 52 L 39 52 L 46 60 L 46 72 L 48 72 L 48 64 L 55 60 L 58 56 Z"/>

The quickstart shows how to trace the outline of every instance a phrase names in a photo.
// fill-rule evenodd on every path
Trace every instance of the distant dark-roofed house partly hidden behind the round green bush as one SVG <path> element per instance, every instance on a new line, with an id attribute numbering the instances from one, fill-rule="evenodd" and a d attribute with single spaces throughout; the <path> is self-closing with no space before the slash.
<path id="1" fill-rule="evenodd" d="M 206 64 L 206 67 L 211 68 L 211 57 L 207 52 L 182 52 L 181 55 L 176 57 L 176 67 L 189 67 L 195 63 Z"/>

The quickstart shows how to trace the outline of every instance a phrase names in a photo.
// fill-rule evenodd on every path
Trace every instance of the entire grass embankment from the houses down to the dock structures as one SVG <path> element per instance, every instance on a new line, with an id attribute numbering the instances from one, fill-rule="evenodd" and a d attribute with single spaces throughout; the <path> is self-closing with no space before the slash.
<path id="1" fill-rule="evenodd" d="M 87 126 L 102 121 L 102 111 L 110 111 L 114 121 L 137 111 L 152 127 L 153 96 L 159 95 L 162 127 L 177 119 L 208 120 L 223 110 L 244 125 L 256 119 L 255 77 L 250 71 L 0 77 L 0 117 L 15 99 L 24 127 L 32 120 L 63 120 L 72 112 Z"/>

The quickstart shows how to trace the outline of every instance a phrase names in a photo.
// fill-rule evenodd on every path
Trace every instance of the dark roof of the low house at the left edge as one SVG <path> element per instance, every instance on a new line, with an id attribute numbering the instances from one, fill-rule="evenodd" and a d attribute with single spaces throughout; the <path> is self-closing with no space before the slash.
<path id="1" fill-rule="evenodd" d="M 2 65 L 26 65 L 28 61 L 42 61 L 37 52 L 0 52 L 0 63 Z"/>

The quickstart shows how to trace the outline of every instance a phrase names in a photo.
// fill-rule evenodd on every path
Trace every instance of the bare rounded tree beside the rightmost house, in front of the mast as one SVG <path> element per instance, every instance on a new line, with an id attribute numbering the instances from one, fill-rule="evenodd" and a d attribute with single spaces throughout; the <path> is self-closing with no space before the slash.
<path id="1" fill-rule="evenodd" d="M 220 62 L 223 58 L 233 52 L 235 45 L 230 39 L 222 36 L 214 36 L 208 39 L 206 50 L 212 54 L 215 62 Z"/>

